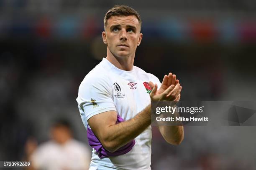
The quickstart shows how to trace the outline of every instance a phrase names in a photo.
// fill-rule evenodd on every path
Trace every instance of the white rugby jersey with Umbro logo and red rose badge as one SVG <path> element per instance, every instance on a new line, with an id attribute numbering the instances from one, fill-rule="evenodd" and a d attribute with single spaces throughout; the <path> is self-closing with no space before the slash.
<path id="1" fill-rule="evenodd" d="M 79 86 L 77 103 L 84 127 L 87 129 L 90 117 L 110 110 L 117 111 L 124 120 L 134 117 L 151 102 L 146 85 L 149 81 L 161 86 L 156 76 L 139 67 L 120 70 L 103 58 Z M 90 170 L 150 170 L 151 126 L 135 142 L 131 151 L 116 157 L 100 159 L 93 149 Z"/>

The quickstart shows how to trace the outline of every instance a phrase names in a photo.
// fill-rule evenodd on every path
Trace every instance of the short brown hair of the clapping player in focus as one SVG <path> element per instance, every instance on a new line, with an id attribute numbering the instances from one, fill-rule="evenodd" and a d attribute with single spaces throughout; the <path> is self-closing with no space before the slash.
<path id="1" fill-rule="evenodd" d="M 129 7 L 127 5 L 115 5 L 113 8 L 108 10 L 108 13 L 105 14 L 104 17 L 104 27 L 107 26 L 108 19 L 112 18 L 113 16 L 130 16 L 135 15 L 138 19 L 138 22 L 141 25 L 141 16 L 138 14 L 136 10 L 134 10 L 132 7 Z"/>

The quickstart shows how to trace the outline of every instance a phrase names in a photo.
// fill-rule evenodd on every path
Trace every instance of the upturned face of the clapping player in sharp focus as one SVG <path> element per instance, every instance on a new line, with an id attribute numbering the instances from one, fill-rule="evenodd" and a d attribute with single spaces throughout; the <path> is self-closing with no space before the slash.
<path id="1" fill-rule="evenodd" d="M 125 57 L 135 55 L 142 39 L 140 31 L 141 25 L 136 16 L 113 16 L 108 19 L 102 38 L 115 57 Z"/>

